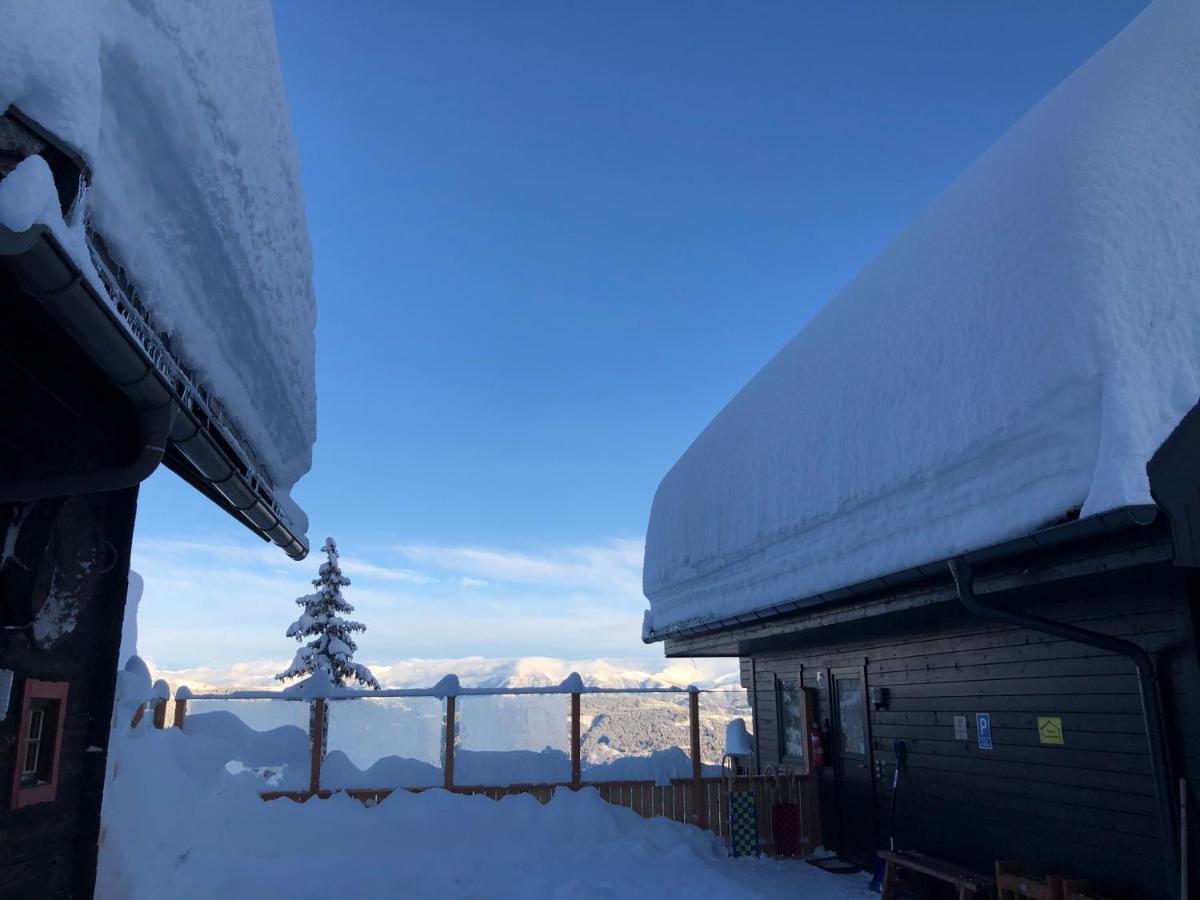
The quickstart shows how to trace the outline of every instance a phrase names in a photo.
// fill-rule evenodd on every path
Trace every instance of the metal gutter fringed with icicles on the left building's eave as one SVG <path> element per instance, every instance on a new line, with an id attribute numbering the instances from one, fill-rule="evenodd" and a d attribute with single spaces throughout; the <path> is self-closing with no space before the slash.
<path id="1" fill-rule="evenodd" d="M 104 292 L 83 274 L 46 226 L 25 232 L 0 226 L 0 263 L 130 398 L 139 421 L 146 422 L 145 452 L 118 480 L 144 479 L 167 454 L 172 469 L 191 469 L 186 480 L 203 484 L 208 488 L 204 493 L 238 521 L 293 559 L 304 559 L 307 539 L 275 500 L 270 481 L 253 463 L 245 443 L 150 328 L 103 254 L 91 242 L 90 250 Z M 157 422 L 157 430 L 150 422 Z M 70 492 L 71 482 L 60 487 Z"/>

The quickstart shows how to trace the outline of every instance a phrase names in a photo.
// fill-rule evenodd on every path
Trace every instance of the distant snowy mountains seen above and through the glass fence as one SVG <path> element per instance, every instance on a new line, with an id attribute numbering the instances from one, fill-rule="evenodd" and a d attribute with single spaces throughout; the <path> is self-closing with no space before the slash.
<path id="1" fill-rule="evenodd" d="M 732 665 L 731 665 L 732 662 Z M 278 661 L 209 670 L 157 671 L 173 686 L 187 683 L 193 691 L 278 686 L 270 680 L 283 667 Z M 733 660 L 664 660 L 659 666 L 630 660 L 560 660 L 545 656 L 485 659 L 469 656 L 373 664 L 388 688 L 427 688 L 443 676 L 458 676 L 464 686 L 554 686 L 571 672 L 596 688 L 670 689 L 694 684 L 701 695 L 701 754 L 706 763 L 724 755 L 725 726 L 732 718 L 749 725 L 750 709 L 738 683 Z M 653 670 L 653 671 L 652 671 Z M 460 697 L 458 746 L 467 750 L 569 751 L 569 698 L 565 695 Z M 253 728 L 307 725 L 300 703 L 270 701 L 193 701 L 192 712 L 228 709 Z M 384 756 L 439 763 L 443 754 L 443 702 L 437 698 L 338 701 L 331 707 L 329 749 L 342 750 L 359 768 Z M 581 700 L 584 766 L 656 750 L 689 745 L 685 694 L 584 695 Z"/>

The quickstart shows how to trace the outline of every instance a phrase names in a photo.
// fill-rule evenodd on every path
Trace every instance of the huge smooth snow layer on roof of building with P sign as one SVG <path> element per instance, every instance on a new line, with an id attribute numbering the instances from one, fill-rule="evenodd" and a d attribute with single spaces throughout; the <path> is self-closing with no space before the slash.
<path id="1" fill-rule="evenodd" d="M 1150 503 L 1200 395 L 1200 5 L 1158 0 L 662 480 L 648 636 Z"/>

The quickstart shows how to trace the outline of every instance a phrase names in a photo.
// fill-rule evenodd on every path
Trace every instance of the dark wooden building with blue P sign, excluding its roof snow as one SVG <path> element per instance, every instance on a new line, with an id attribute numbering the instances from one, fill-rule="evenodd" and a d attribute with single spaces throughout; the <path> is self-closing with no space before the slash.
<path id="1" fill-rule="evenodd" d="M 1015 858 L 1114 896 L 1174 895 L 1181 776 L 1192 835 L 1200 824 L 1198 454 L 1193 414 L 1156 460 L 1160 510 L 965 554 L 976 608 L 944 560 L 791 614 L 678 634 L 666 654 L 740 656 L 757 766 L 815 773 L 823 841 L 839 854 L 872 865 L 894 840 L 983 871 Z M 1051 631 L 1058 623 L 1080 632 Z M 1093 636 L 1142 648 L 1152 668 Z M 1193 878 L 1195 866 L 1193 846 Z"/>

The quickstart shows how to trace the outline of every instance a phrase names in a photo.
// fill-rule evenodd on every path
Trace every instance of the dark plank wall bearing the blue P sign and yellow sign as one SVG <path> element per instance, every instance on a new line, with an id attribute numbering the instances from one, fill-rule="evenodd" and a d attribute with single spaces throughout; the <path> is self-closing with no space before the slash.
<path id="1" fill-rule="evenodd" d="M 1012 592 L 1042 616 L 1117 635 L 1158 654 L 1178 772 L 1200 787 L 1200 672 L 1196 592 L 1188 570 L 1168 565 Z M 995 599 L 995 598 L 994 598 Z M 1165 896 L 1159 821 L 1133 665 L 1091 647 L 970 616 L 954 604 L 824 629 L 742 661 L 755 686 L 760 764 L 779 758 L 774 679 L 865 666 L 888 689 L 870 712 L 876 846 L 888 840 L 893 745 L 908 748 L 896 800 L 902 848 L 989 869 L 1020 858 L 1031 871 L 1088 877 L 1117 895 Z M 832 719 L 829 691 L 816 716 Z M 990 713 L 994 750 L 976 743 L 976 713 Z M 955 740 L 954 715 L 968 718 Z M 1037 716 L 1062 716 L 1066 745 L 1038 740 Z M 828 738 L 835 740 L 835 736 Z M 832 769 L 821 772 L 827 844 L 839 836 Z M 1196 835 L 1195 818 L 1192 834 Z M 1195 841 L 1193 841 L 1195 842 Z M 1195 850 L 1193 850 L 1195 857 Z"/>

